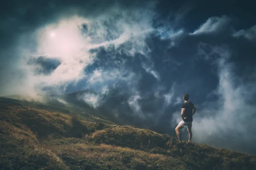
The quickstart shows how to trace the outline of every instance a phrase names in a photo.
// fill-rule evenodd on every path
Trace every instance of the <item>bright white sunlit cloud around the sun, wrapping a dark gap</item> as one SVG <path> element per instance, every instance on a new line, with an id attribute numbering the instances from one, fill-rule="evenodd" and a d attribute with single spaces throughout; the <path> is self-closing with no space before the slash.
<path id="1" fill-rule="evenodd" d="M 37 31 L 37 47 L 35 55 L 31 57 L 57 58 L 61 64 L 47 76 L 34 75 L 34 66 L 29 66 L 29 78 L 35 87 L 58 86 L 85 76 L 84 67 L 93 61 L 92 55 L 88 52 L 89 42 L 84 40 L 78 29 L 78 25 L 85 22 L 88 21 L 75 16 L 49 24 Z"/>

